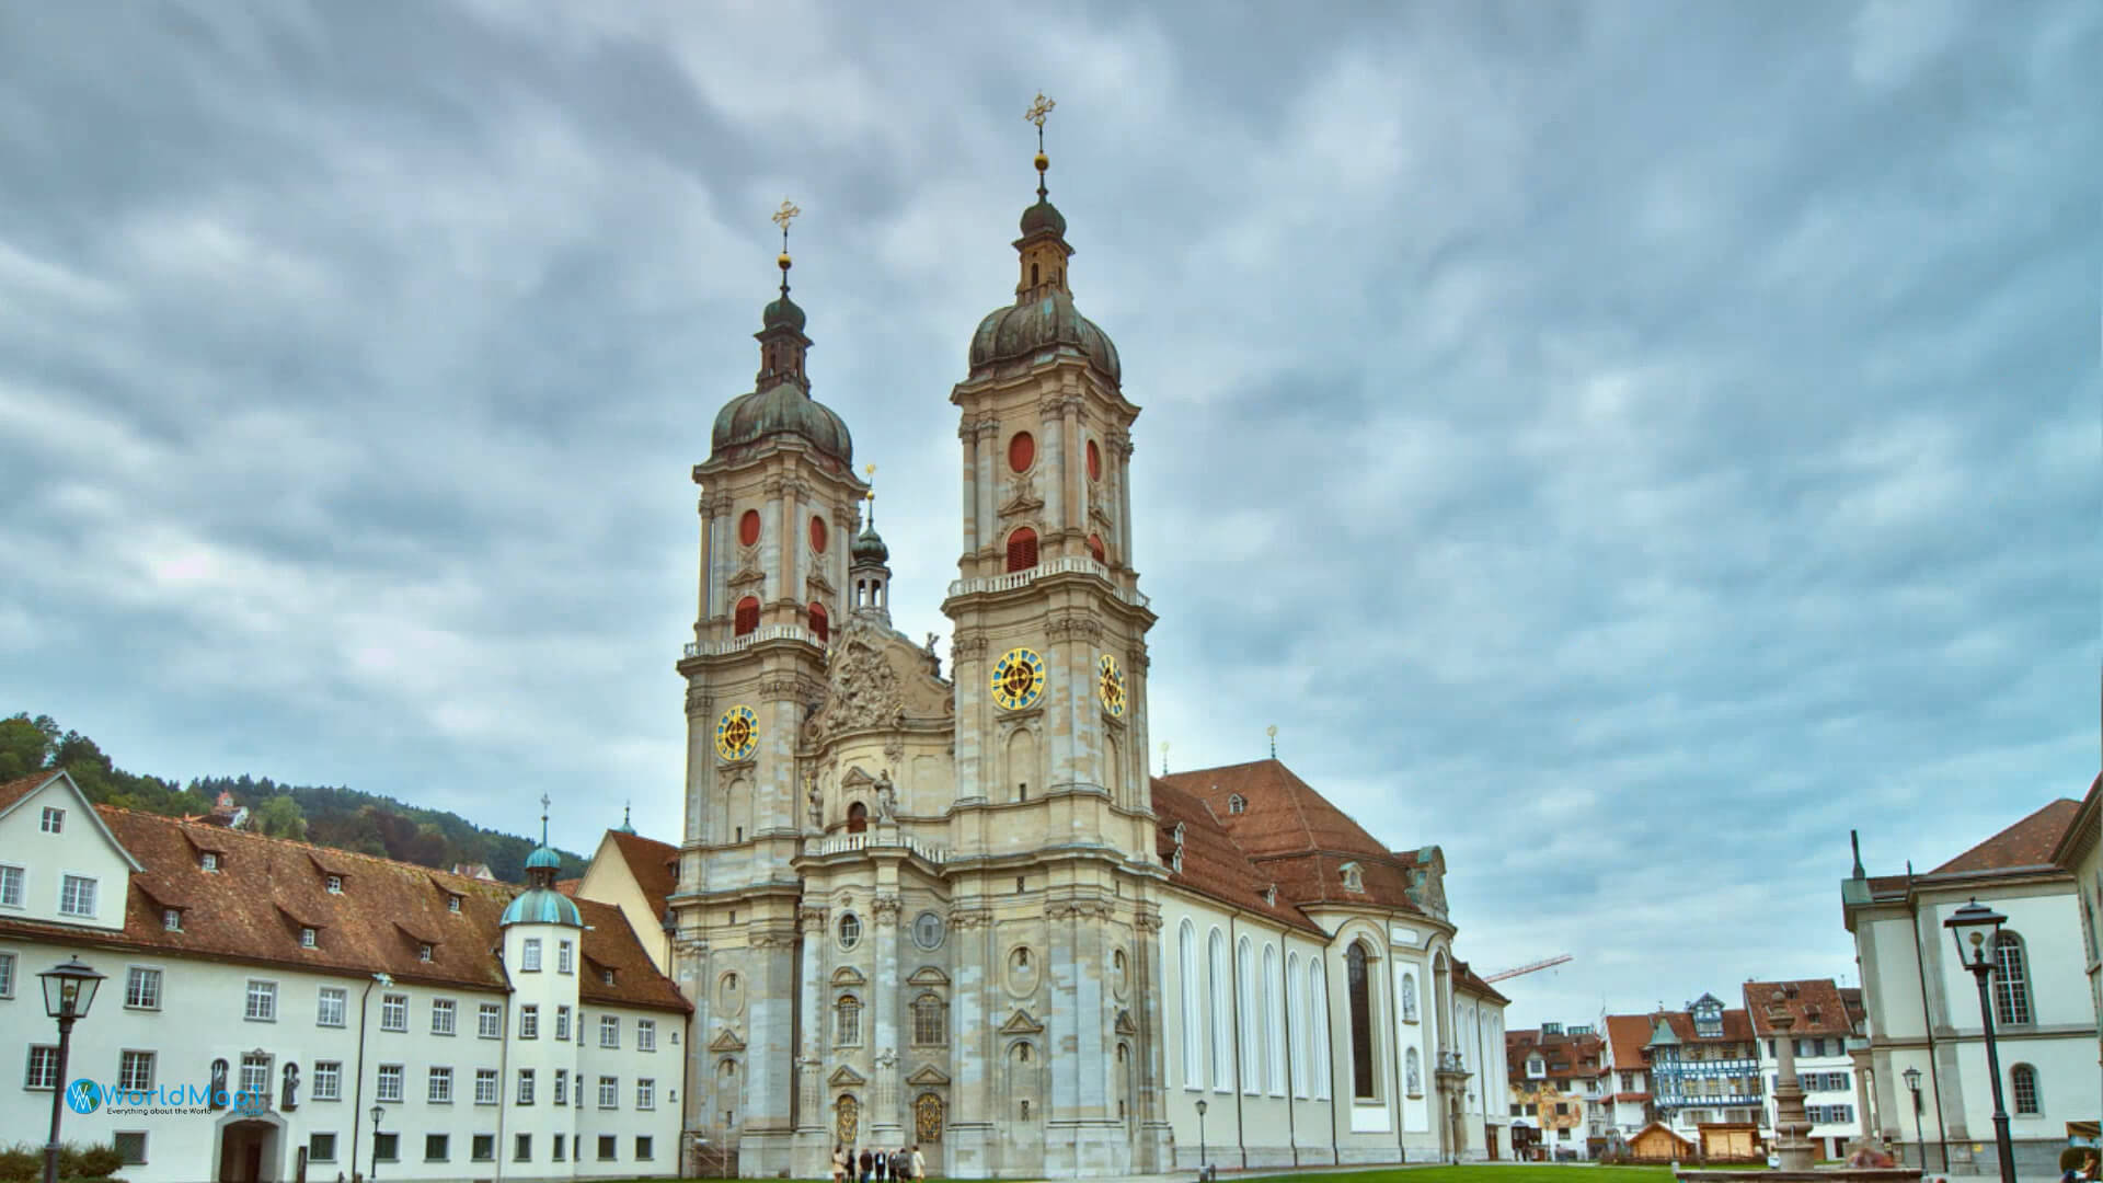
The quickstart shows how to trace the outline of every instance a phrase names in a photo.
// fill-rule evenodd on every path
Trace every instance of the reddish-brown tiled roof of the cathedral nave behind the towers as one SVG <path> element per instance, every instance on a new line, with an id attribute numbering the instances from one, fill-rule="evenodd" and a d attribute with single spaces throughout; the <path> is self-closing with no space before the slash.
<path id="1" fill-rule="evenodd" d="M 1388 850 L 1279 760 L 1173 773 L 1155 777 L 1155 785 L 1197 800 L 1255 874 L 1274 880 L 1293 903 L 1371 903 L 1422 914 L 1409 886 L 1420 859 L 1430 855 Z M 1241 813 L 1232 810 L 1237 796 Z M 1363 893 L 1344 890 L 1346 863 L 1359 865 Z"/>

